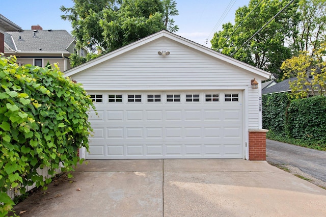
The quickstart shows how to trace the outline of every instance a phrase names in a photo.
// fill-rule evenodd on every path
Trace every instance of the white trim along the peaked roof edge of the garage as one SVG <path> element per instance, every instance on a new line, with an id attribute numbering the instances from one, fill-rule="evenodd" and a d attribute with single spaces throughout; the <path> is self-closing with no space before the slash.
<path id="1" fill-rule="evenodd" d="M 197 43 L 195 43 L 193 41 L 190 41 L 188 39 L 182 38 L 181 36 L 178 36 L 176 34 L 168 32 L 166 30 L 162 30 L 160 32 L 152 34 L 152 35 L 150 35 L 148 37 L 145 37 L 145 38 L 143 38 L 141 40 L 138 40 L 138 41 L 133 42 L 133 43 L 131 43 L 129 45 L 126 45 L 126 46 L 121 47 L 121 48 L 119 48 L 117 50 L 114 50 L 114 51 L 112 51 L 110 53 L 107 53 L 106 55 L 98 57 L 98 58 L 96 58 L 96 59 L 94 59 L 92 61 L 89 61 L 89 62 L 84 63 L 82 65 L 76 66 L 76 67 L 74 67 L 72 69 L 69 69 L 69 70 L 65 71 L 65 74 L 66 74 L 66 76 L 72 76 L 72 75 L 74 75 L 76 73 L 87 70 L 87 69 L 89 69 L 89 68 L 91 68 L 91 67 L 93 67 L 95 65 L 98 65 L 98 64 L 104 62 L 104 61 L 115 58 L 115 57 L 117 57 L 119 55 L 122 55 L 123 53 L 129 52 L 129 51 L 131 51 L 133 49 L 136 49 L 136 48 L 138 48 L 138 47 L 140 47 L 142 45 L 145 45 L 147 43 L 150 43 L 150 42 L 155 41 L 155 40 L 160 39 L 160 38 L 171 39 L 171 40 L 176 41 L 176 42 L 178 42 L 178 43 L 180 43 L 182 45 L 185 45 L 187 47 L 190 47 L 190 48 L 196 49 L 198 51 L 201 51 L 201 52 L 205 53 L 206 55 L 209 55 L 211 57 L 214 57 L 216 59 L 219 59 L 221 61 L 229 63 L 231 65 L 240 67 L 240 68 L 242 68 L 244 70 L 250 71 L 250 72 L 256 74 L 257 76 L 261 76 L 262 78 L 269 78 L 269 76 L 270 76 L 269 72 L 258 69 L 258 68 L 254 67 L 254 66 L 243 63 L 241 61 L 235 60 L 235 59 L 233 59 L 231 57 L 223 55 L 220 52 L 217 52 L 215 50 L 207 48 L 207 47 L 205 47 L 203 45 L 197 44 Z"/>

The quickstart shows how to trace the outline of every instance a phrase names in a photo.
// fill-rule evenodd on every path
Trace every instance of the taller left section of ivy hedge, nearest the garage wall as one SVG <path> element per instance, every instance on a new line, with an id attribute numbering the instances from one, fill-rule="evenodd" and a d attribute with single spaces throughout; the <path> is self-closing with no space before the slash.
<path id="1" fill-rule="evenodd" d="M 290 104 L 287 93 L 262 96 L 262 127 L 285 134 L 286 111 Z"/>

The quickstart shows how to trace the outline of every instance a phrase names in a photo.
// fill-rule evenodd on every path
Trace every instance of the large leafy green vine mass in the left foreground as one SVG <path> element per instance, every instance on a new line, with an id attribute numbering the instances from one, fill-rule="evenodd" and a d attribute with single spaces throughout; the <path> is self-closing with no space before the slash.
<path id="1" fill-rule="evenodd" d="M 88 150 L 92 100 L 80 84 L 59 68 L 18 66 L 15 57 L 0 57 L 0 215 L 13 203 L 7 191 L 25 193 L 25 186 L 43 186 L 61 162 L 63 171 L 79 161 L 78 148 Z"/>

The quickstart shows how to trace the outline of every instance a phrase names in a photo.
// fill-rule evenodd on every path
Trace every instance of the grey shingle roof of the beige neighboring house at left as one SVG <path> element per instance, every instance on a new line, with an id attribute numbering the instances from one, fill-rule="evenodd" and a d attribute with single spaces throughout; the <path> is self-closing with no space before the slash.
<path id="1" fill-rule="evenodd" d="M 6 45 L 20 53 L 69 53 L 67 48 L 73 41 L 74 38 L 66 30 L 24 30 L 5 34 Z"/>

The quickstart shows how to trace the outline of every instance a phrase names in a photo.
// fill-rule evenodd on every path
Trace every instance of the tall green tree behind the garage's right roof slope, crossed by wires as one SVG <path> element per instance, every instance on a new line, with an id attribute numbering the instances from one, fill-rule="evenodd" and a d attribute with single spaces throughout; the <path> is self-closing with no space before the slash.
<path id="1" fill-rule="evenodd" d="M 286 42 L 289 38 L 296 38 L 295 25 L 300 18 L 297 2 L 290 4 L 244 44 L 288 3 L 278 0 L 263 0 L 260 3 L 251 0 L 248 7 L 236 10 L 234 25 L 226 23 L 223 31 L 214 34 L 212 49 L 260 69 L 267 67 L 270 72 L 279 73 L 282 62 L 292 56 L 292 50 L 286 46 Z"/>

